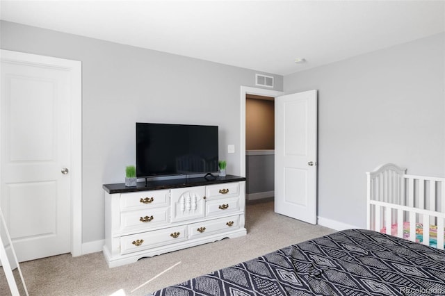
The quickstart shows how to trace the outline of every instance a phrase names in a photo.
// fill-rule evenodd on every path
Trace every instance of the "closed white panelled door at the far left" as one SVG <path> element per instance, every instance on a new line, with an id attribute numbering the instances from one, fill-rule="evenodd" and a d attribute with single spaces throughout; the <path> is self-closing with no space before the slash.
<path id="1" fill-rule="evenodd" d="M 67 60 L 1 54 L 0 206 L 17 258 L 71 252 L 72 72 Z"/>

